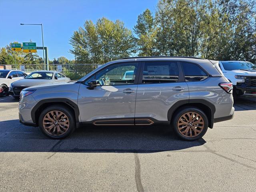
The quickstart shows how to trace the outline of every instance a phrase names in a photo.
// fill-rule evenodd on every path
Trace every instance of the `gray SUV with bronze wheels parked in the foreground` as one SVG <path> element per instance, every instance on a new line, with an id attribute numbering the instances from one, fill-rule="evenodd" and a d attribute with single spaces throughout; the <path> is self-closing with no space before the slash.
<path id="1" fill-rule="evenodd" d="M 169 124 L 180 138 L 196 140 L 234 115 L 232 83 L 214 63 L 167 56 L 108 62 L 77 82 L 25 88 L 19 119 L 53 139 L 86 124 Z"/>

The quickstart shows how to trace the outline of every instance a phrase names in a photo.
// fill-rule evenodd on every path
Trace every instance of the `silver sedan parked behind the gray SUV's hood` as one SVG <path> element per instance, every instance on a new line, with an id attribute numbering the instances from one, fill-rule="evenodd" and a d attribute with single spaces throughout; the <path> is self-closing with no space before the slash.
<path id="1" fill-rule="evenodd" d="M 26 78 L 10 84 L 9 94 L 16 98 L 20 97 L 20 92 L 24 88 L 43 85 L 49 83 L 68 82 L 70 78 L 56 71 L 37 71 L 32 72 Z"/>

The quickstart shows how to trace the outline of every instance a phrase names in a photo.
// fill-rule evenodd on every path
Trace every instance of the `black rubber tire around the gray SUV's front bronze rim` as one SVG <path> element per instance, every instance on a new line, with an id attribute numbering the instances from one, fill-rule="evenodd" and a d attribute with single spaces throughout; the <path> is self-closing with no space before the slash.
<path id="1" fill-rule="evenodd" d="M 62 135 L 52 135 L 52 134 L 49 134 L 46 131 L 46 129 L 44 128 L 44 126 L 43 126 L 44 116 L 46 116 L 46 114 L 48 114 L 51 111 L 60 111 L 60 112 L 64 113 L 68 117 L 69 127 L 68 127 L 68 130 L 64 134 L 62 134 Z M 40 130 L 46 136 L 48 136 L 49 138 L 52 138 L 52 139 L 63 139 L 63 138 L 66 138 L 67 136 L 72 134 L 72 132 L 74 132 L 74 130 L 76 128 L 76 121 L 75 121 L 75 118 L 74 118 L 74 114 L 72 112 L 70 112 L 69 108 L 67 108 L 66 106 L 62 106 L 62 105 L 53 105 L 53 106 L 45 108 L 41 112 L 41 114 L 39 116 L 38 124 L 39 124 Z"/>

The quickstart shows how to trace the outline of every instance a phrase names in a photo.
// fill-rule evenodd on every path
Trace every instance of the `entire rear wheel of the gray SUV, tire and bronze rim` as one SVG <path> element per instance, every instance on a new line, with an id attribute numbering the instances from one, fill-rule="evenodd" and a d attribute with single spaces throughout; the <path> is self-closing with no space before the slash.
<path id="1" fill-rule="evenodd" d="M 179 110 L 172 120 L 174 132 L 183 140 L 202 138 L 208 129 L 208 118 L 205 113 L 194 107 Z"/>

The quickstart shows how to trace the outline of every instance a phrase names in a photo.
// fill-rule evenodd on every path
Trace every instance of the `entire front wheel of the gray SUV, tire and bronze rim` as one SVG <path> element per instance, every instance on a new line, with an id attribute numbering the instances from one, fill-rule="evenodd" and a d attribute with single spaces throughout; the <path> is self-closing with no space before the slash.
<path id="1" fill-rule="evenodd" d="M 75 129 L 74 115 L 65 106 L 50 106 L 39 116 L 41 131 L 52 139 L 62 139 Z"/>

